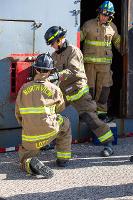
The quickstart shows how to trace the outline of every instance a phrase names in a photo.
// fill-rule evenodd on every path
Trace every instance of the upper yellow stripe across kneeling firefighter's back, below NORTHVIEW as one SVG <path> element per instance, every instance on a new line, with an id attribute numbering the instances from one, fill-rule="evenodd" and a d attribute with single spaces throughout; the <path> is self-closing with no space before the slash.
<path id="1" fill-rule="evenodd" d="M 27 107 L 27 108 L 19 108 L 20 114 L 55 114 L 55 105 L 53 106 L 41 106 L 41 107 Z"/>

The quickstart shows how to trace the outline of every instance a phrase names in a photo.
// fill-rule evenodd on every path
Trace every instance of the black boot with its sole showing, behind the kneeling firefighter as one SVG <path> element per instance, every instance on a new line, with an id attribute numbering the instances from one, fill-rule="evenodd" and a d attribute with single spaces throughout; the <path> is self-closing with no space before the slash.
<path id="1" fill-rule="evenodd" d="M 53 171 L 48 166 L 45 166 L 38 158 L 31 159 L 30 169 L 34 175 L 42 175 L 45 179 L 52 178 L 54 175 Z"/>

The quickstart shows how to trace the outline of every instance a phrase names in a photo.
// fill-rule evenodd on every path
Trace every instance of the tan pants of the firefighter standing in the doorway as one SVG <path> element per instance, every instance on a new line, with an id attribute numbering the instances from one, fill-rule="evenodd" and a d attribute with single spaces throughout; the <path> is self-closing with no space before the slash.
<path id="1" fill-rule="evenodd" d="M 97 103 L 97 110 L 107 112 L 107 100 L 113 84 L 110 65 L 85 63 L 84 66 L 90 94 Z"/>

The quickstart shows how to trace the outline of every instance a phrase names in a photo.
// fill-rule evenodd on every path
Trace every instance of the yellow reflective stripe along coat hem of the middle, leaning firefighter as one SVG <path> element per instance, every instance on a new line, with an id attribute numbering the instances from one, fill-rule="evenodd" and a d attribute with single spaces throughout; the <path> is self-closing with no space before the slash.
<path id="1" fill-rule="evenodd" d="M 81 90 L 79 90 L 77 94 L 74 94 L 72 96 L 67 95 L 66 99 L 68 101 L 76 101 L 76 100 L 80 99 L 87 92 L 89 92 L 89 87 L 86 85 Z"/>

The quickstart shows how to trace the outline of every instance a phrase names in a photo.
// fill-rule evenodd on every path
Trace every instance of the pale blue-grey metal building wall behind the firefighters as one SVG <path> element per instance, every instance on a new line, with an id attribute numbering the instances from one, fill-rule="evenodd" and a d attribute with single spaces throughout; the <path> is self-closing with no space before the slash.
<path id="1" fill-rule="evenodd" d="M 0 0 L 0 147 L 9 147 L 21 142 L 19 125 L 15 119 L 15 101 L 11 93 L 11 54 L 31 54 L 51 51 L 45 44 L 44 33 L 54 25 L 67 29 L 67 39 L 77 44 L 79 18 L 75 21 L 73 10 L 79 10 L 80 4 L 72 0 Z M 16 20 L 16 21 L 15 21 Z M 42 26 L 35 30 L 33 22 Z M 35 31 L 35 38 L 34 38 Z M 65 111 L 72 121 L 75 133 L 77 115 L 75 110 Z M 18 128 L 18 129 L 17 129 Z"/>

